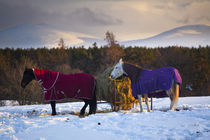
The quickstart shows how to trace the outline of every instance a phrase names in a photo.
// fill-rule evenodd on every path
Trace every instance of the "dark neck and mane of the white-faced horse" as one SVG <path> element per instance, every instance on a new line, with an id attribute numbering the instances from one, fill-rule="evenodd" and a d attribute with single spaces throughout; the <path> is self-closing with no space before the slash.
<path id="1" fill-rule="evenodd" d="M 141 72 L 144 70 L 140 66 L 124 62 L 123 70 L 128 74 L 127 76 L 131 79 L 131 82 L 137 82 Z"/>

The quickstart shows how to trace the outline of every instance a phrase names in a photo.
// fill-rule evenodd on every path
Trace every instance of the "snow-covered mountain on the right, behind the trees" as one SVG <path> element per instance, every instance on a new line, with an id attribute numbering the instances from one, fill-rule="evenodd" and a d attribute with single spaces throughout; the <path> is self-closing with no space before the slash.
<path id="1" fill-rule="evenodd" d="M 178 27 L 146 39 L 121 42 L 124 46 L 187 46 L 198 47 L 210 45 L 210 26 L 187 25 Z"/>

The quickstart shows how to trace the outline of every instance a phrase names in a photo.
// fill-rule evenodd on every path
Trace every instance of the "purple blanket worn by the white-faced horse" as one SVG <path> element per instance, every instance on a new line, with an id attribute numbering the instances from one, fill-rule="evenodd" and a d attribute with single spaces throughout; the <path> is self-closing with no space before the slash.
<path id="1" fill-rule="evenodd" d="M 138 94 L 149 94 L 149 97 L 165 97 L 167 96 L 165 91 L 172 87 L 173 79 L 180 85 L 179 93 L 181 93 L 182 79 L 177 69 L 173 67 L 145 69 L 139 76 L 139 80 L 131 84 L 132 94 L 135 98 Z"/>

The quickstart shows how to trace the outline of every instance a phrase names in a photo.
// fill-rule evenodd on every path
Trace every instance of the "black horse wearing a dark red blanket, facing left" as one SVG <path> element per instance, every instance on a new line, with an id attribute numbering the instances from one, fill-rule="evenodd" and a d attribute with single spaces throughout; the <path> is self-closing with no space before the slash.
<path id="1" fill-rule="evenodd" d="M 21 87 L 24 89 L 32 80 L 38 81 L 43 89 L 44 100 L 49 101 L 52 115 L 56 115 L 56 101 L 64 98 L 77 98 L 85 102 L 80 117 L 89 105 L 89 114 L 95 114 L 97 108 L 96 80 L 87 73 L 62 74 L 50 70 L 26 68 Z"/>

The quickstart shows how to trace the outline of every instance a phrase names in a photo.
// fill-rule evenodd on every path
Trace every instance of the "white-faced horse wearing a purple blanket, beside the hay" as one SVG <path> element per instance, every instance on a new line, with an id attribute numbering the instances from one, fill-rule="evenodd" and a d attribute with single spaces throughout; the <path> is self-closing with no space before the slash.
<path id="1" fill-rule="evenodd" d="M 171 100 L 170 110 L 173 111 L 177 105 L 181 93 L 182 79 L 176 68 L 162 67 L 149 70 L 123 62 L 120 59 L 114 66 L 110 77 L 117 79 L 121 76 L 130 78 L 132 95 L 139 99 L 140 112 L 143 112 L 142 96 L 145 98 L 148 112 L 150 112 L 148 97 L 165 97 L 168 95 Z"/>

